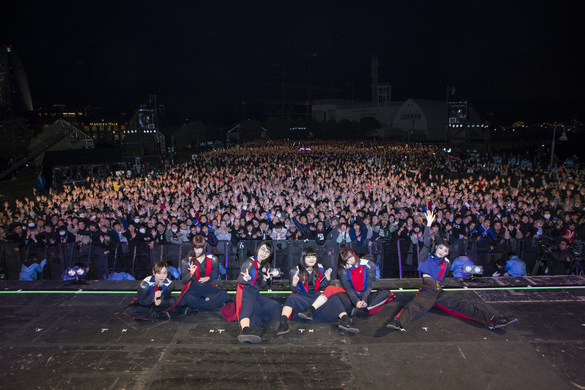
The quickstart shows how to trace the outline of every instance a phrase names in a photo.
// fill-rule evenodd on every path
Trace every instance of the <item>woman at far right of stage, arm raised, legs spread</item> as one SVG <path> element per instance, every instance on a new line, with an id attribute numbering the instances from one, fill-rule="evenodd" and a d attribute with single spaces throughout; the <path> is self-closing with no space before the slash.
<path id="1" fill-rule="evenodd" d="M 418 265 L 418 271 L 422 272 L 422 287 L 418 289 L 417 295 L 396 316 L 390 317 L 386 327 L 404 329 L 410 321 L 421 317 L 433 306 L 453 316 L 478 321 L 492 328 L 517 323 L 517 319 L 512 320 L 507 317 L 495 316 L 443 292 L 441 281 L 449 273 L 449 259 L 446 256 L 449 254 L 451 245 L 447 241 L 440 242 L 436 247 L 435 254 L 429 255 L 431 250 L 431 225 L 434 220 L 435 214 L 430 210 L 427 211 L 424 235 L 425 246 L 421 249 Z"/>

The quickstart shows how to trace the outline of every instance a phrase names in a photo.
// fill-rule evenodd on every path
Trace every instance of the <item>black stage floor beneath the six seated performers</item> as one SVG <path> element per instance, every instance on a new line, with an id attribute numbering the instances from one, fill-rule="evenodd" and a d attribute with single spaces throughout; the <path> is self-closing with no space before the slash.
<path id="1" fill-rule="evenodd" d="M 374 289 L 403 290 L 375 316 L 355 318 L 360 333 L 290 321 L 276 336 L 270 323 L 254 329 L 259 344 L 238 343 L 238 323 L 219 310 L 127 318 L 137 281 L 2 281 L 0 389 L 584 389 L 585 278 L 483 280 L 445 286 L 518 324 L 490 330 L 431 309 L 392 331 L 388 317 L 420 279 L 383 279 Z M 284 303 L 281 283 L 269 296 Z"/>

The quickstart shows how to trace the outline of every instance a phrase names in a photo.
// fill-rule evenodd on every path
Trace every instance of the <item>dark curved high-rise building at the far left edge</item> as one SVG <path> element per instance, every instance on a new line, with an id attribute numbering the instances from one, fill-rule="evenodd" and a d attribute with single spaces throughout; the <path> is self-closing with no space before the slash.
<path id="1" fill-rule="evenodd" d="M 29 81 L 20 57 L 11 46 L 0 48 L 0 118 L 16 118 L 33 111 Z"/>

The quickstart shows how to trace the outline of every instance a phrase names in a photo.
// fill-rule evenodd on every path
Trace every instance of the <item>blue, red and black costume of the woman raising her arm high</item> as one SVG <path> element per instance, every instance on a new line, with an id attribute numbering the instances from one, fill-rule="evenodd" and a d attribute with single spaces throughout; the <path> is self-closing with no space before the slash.
<path id="1" fill-rule="evenodd" d="M 396 315 L 400 320 L 400 325 L 407 326 L 410 321 L 421 317 L 434 306 L 453 316 L 478 321 L 487 326 L 494 317 L 493 314 L 443 292 L 441 282 L 449 273 L 449 259 L 429 254 L 431 251 L 431 227 L 428 226 L 425 228 L 424 244 L 425 246 L 419 252 L 421 261 L 418 265 L 418 271 L 424 274 L 422 286 L 414 298 Z"/>

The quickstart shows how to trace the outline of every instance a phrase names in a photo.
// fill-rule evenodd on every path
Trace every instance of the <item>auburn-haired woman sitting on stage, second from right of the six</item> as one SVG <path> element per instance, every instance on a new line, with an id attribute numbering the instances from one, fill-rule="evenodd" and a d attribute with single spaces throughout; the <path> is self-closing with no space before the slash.
<path id="1" fill-rule="evenodd" d="M 311 319 L 331 296 L 339 296 L 346 310 L 351 310 L 352 317 L 362 314 L 376 314 L 386 303 L 394 299 L 390 289 L 378 289 L 372 293 L 371 288 L 376 278 L 376 266 L 369 259 L 360 259 L 353 249 L 341 248 L 338 255 L 338 275 L 343 288 L 329 286 L 315 302 L 298 314 L 299 317 Z M 342 327 L 343 323 L 339 325 Z"/>

